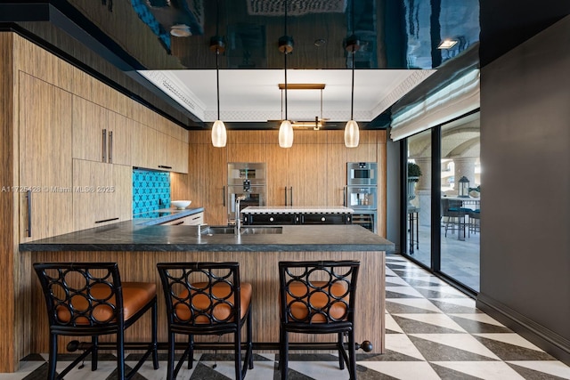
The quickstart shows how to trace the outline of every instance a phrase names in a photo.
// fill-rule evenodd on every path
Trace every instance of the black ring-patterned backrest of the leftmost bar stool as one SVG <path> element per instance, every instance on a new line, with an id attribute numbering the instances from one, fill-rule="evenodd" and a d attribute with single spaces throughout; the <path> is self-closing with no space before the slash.
<path id="1" fill-rule="evenodd" d="M 60 332 L 124 326 L 117 263 L 34 263 L 51 329 Z M 83 334 L 83 333 L 82 333 Z"/>

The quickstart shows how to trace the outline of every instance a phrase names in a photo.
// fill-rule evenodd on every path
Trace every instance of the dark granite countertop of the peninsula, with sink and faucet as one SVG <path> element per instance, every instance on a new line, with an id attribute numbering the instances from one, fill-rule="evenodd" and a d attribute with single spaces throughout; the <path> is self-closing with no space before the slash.
<path id="1" fill-rule="evenodd" d="M 284 225 L 281 234 L 252 234 L 237 237 L 233 234 L 196 236 L 195 226 L 140 225 L 133 221 L 118 222 L 20 244 L 20 251 L 51 252 L 389 252 L 394 249 L 394 243 L 354 224 Z"/>

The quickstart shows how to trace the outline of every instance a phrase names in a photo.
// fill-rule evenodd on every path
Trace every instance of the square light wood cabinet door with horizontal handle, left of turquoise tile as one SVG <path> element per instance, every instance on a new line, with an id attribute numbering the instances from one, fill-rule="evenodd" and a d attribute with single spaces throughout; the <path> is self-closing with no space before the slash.
<path id="1" fill-rule="evenodd" d="M 73 160 L 73 221 L 85 230 L 133 216 L 132 167 Z"/>

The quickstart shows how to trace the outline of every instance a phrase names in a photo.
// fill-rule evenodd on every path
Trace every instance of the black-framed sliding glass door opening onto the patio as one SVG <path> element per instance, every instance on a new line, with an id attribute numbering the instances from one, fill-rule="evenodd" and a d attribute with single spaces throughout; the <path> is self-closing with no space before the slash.
<path id="1" fill-rule="evenodd" d="M 479 131 L 475 112 L 408 137 L 403 179 L 404 255 L 475 293 L 481 237 Z"/>

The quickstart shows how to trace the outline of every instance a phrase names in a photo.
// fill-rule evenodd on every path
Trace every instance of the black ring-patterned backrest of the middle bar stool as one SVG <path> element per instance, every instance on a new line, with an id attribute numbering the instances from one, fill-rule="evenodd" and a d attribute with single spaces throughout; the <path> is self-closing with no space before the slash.
<path id="1" fill-rule="evenodd" d="M 208 329 L 240 322 L 239 263 L 158 263 L 170 325 Z"/>

